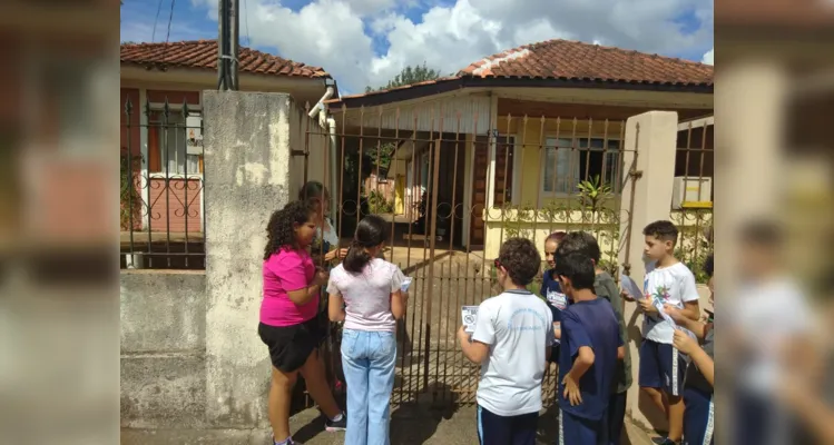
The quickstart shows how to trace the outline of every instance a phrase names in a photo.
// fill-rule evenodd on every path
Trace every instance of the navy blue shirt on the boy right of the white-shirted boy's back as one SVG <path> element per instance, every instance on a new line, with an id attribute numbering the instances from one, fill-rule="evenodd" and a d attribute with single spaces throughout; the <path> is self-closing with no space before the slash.
<path id="1" fill-rule="evenodd" d="M 593 350 L 593 365 L 579 379 L 582 403 L 571 406 L 565 398 L 565 376 L 573 367 L 579 348 Z M 559 407 L 577 417 L 600 421 L 608 409 L 615 384 L 620 340 L 617 316 L 604 298 L 575 301 L 562 310 L 562 343 L 559 347 Z"/>

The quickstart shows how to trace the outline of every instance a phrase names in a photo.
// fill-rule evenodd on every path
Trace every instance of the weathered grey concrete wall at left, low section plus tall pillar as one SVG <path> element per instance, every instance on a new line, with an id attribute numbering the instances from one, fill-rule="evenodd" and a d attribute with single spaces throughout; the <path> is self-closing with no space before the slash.
<path id="1" fill-rule="evenodd" d="M 292 115 L 301 121 L 287 95 L 204 92 L 206 271 L 122 273 L 122 427 L 266 442 L 261 258 L 269 215 L 291 197 Z"/>

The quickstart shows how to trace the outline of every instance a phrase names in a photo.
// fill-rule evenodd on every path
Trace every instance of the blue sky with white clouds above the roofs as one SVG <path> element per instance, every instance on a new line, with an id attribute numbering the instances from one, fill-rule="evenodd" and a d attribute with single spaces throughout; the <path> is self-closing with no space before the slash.
<path id="1" fill-rule="evenodd" d="M 552 38 L 696 61 L 713 49 L 712 0 L 239 1 L 242 44 L 323 67 L 343 92 L 385 83 L 406 65 L 454 72 Z M 121 40 L 215 39 L 216 16 L 217 0 L 126 0 Z"/>

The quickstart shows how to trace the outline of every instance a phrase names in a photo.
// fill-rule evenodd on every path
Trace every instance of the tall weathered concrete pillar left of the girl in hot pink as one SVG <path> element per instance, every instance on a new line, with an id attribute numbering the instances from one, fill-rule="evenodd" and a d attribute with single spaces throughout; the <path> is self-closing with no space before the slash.
<path id="1" fill-rule="evenodd" d="M 269 359 L 257 336 L 265 227 L 290 194 L 288 95 L 205 91 L 206 419 L 264 428 Z"/>

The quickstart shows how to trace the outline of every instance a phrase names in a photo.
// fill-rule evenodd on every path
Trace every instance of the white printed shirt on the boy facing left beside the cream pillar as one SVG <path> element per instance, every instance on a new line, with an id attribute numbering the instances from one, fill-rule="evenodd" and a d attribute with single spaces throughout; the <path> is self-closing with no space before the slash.
<path id="1" fill-rule="evenodd" d="M 648 270 L 642 280 L 642 291 L 649 298 L 657 298 L 664 304 L 684 307 L 684 303 L 700 299 L 695 285 L 695 275 L 683 263 L 668 267 L 656 267 L 653 261 L 646 266 Z M 656 343 L 671 345 L 675 337 L 675 326 L 660 315 L 642 317 L 642 337 Z"/>

